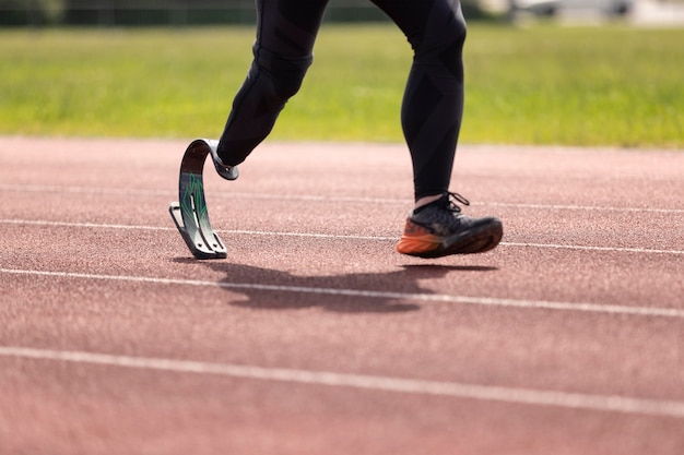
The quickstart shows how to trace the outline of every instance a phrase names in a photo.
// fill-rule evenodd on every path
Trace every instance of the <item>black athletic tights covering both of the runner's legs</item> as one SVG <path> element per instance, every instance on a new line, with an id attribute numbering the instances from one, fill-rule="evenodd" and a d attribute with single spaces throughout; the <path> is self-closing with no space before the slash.
<path id="1" fill-rule="evenodd" d="M 463 111 L 465 21 L 460 1 L 370 1 L 394 21 L 414 51 L 401 122 L 413 163 L 415 199 L 441 194 L 449 189 Z M 219 145 L 226 165 L 245 160 L 299 89 L 327 3 L 257 0 L 255 59 Z"/>

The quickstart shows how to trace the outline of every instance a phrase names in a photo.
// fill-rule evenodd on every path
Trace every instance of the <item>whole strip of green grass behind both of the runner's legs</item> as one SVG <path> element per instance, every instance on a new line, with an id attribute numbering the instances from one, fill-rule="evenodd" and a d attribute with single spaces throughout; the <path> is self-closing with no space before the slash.
<path id="1" fill-rule="evenodd" d="M 0 31 L 0 134 L 216 136 L 251 28 Z M 684 29 L 473 24 L 467 143 L 684 147 Z M 271 137 L 401 141 L 411 51 L 391 25 L 321 31 Z"/>

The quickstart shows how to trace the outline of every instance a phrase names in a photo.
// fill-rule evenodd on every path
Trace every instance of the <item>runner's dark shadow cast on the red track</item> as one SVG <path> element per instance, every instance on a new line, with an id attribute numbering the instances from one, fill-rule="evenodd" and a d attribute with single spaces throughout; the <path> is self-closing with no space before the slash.
<path id="1" fill-rule="evenodd" d="M 434 295 L 421 280 L 439 279 L 455 272 L 494 272 L 496 267 L 435 264 L 403 265 L 392 272 L 342 275 L 293 275 L 288 272 L 226 262 L 202 262 L 225 274 L 219 284 L 245 296 L 229 304 L 256 310 L 321 308 L 340 313 L 398 313 L 418 311 L 408 295 Z"/>

